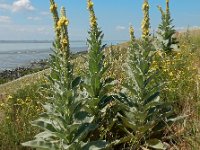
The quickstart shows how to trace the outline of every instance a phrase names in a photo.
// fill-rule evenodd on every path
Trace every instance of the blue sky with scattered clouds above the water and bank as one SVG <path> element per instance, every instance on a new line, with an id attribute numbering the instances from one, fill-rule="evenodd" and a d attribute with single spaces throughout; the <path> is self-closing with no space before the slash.
<path id="1" fill-rule="evenodd" d="M 88 11 L 86 0 L 55 0 L 59 8 L 67 9 L 71 40 L 87 37 Z M 140 36 L 143 0 L 93 0 L 98 23 L 105 40 L 128 40 L 129 25 Z M 160 22 L 157 5 L 165 7 L 165 0 L 149 0 L 151 28 Z M 200 27 L 200 0 L 171 0 L 170 8 L 177 30 Z M 51 40 L 53 22 L 49 0 L 0 0 L 0 40 Z"/>

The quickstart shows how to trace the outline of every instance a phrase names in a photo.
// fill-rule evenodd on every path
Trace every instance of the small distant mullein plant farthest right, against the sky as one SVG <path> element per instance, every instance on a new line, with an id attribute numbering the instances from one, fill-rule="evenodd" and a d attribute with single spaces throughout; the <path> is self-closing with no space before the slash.
<path id="1" fill-rule="evenodd" d="M 175 38 L 176 30 L 172 25 L 169 0 L 166 0 L 166 10 L 164 11 L 161 6 L 158 6 L 161 12 L 162 22 L 158 27 L 156 47 L 158 50 L 163 50 L 165 53 L 171 53 L 178 50 L 178 41 Z"/>

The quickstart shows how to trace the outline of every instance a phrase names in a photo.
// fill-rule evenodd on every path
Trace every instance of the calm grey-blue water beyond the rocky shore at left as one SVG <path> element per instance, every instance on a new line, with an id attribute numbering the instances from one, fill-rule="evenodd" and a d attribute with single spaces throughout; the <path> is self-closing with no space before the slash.
<path id="1" fill-rule="evenodd" d="M 105 41 L 108 45 L 121 42 L 123 41 Z M 70 47 L 73 53 L 87 50 L 85 41 L 72 41 Z M 51 48 L 51 42 L 0 42 L 0 70 L 14 69 L 49 58 Z"/>

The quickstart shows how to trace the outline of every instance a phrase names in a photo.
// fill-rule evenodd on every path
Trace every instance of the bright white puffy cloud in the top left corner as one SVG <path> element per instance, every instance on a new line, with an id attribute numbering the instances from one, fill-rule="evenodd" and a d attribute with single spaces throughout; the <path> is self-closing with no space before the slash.
<path id="1" fill-rule="evenodd" d="M 1 3 L 0 9 L 11 10 L 13 12 L 17 12 L 21 10 L 28 10 L 28 11 L 35 10 L 30 0 L 16 0 L 12 4 Z"/>

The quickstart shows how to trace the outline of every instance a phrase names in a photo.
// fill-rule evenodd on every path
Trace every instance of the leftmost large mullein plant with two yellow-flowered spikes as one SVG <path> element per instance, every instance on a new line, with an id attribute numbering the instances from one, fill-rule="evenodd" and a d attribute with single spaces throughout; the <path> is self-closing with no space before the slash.
<path id="1" fill-rule="evenodd" d="M 96 125 L 91 123 L 94 117 L 83 109 L 84 101 L 78 92 L 81 78 L 73 75 L 65 9 L 61 9 L 59 17 L 55 2 L 50 0 L 50 4 L 56 33 L 48 76 L 50 87 L 44 89 L 50 94 L 43 105 L 45 112 L 32 122 L 42 132 L 35 136 L 35 140 L 22 145 L 50 150 L 100 149 L 105 147 L 104 141 L 85 140 Z"/>

